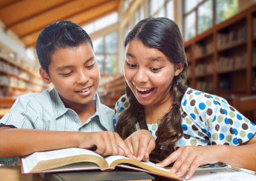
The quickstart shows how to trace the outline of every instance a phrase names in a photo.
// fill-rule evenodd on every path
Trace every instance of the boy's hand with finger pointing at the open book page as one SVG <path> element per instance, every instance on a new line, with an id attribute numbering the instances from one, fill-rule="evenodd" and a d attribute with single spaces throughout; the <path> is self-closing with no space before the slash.
<path id="1" fill-rule="evenodd" d="M 101 131 L 80 133 L 83 134 L 83 136 L 80 135 L 77 146 L 79 148 L 94 149 L 95 152 L 102 156 L 126 155 L 126 157 L 130 159 L 136 159 L 124 140 L 115 132 Z"/>

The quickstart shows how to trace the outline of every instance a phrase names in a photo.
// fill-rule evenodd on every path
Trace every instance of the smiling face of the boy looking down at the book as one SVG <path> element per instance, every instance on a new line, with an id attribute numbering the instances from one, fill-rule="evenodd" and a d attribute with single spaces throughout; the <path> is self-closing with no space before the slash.
<path id="1" fill-rule="evenodd" d="M 90 103 L 100 80 L 92 46 L 87 43 L 54 52 L 48 78 L 67 108 Z"/>

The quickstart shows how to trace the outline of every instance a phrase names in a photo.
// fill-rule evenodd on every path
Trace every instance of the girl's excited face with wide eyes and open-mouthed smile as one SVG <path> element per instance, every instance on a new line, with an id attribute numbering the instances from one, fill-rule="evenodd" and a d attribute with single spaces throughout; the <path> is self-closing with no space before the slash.
<path id="1" fill-rule="evenodd" d="M 144 106 L 162 104 L 169 99 L 173 77 L 183 69 L 183 66 L 178 67 L 175 68 L 164 53 L 148 48 L 139 40 L 132 40 L 126 46 L 124 76 L 132 93 Z"/>

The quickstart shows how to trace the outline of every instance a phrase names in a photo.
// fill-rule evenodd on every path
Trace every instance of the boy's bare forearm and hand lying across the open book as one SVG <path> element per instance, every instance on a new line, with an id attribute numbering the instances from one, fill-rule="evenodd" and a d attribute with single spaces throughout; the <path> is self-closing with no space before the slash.
<path id="1" fill-rule="evenodd" d="M 117 133 L 70 132 L 0 127 L 1 157 L 17 157 L 33 152 L 79 147 L 106 155 L 126 155 L 136 159 Z"/>

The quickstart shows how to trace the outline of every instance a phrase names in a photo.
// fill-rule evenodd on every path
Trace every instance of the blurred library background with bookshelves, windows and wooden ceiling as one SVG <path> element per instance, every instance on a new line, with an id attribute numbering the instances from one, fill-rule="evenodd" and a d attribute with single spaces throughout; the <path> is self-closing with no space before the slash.
<path id="1" fill-rule="evenodd" d="M 101 101 L 125 93 L 124 38 L 139 20 L 166 17 L 182 32 L 191 88 L 226 98 L 247 117 L 256 109 L 256 0 L 1 0 L 0 115 L 43 83 L 35 44 L 52 22 L 70 20 L 92 38 Z M 171 37 L 166 37 L 171 38 Z"/>

